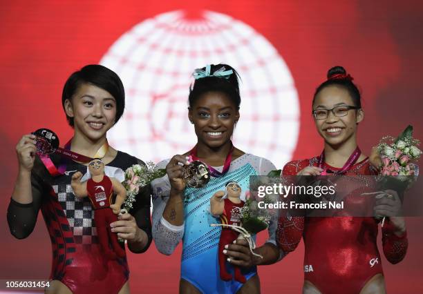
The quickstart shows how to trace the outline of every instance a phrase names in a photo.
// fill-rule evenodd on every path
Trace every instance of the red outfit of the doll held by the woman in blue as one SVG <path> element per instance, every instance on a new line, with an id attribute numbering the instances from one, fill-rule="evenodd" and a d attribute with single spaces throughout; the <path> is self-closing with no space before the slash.
<path id="1" fill-rule="evenodd" d="M 239 204 L 235 204 L 229 199 L 224 199 L 225 202 L 225 211 L 220 217 L 222 224 L 232 224 L 234 226 L 239 226 L 241 222 L 241 208 L 244 206 L 244 202 L 241 201 Z M 225 245 L 232 244 L 234 240 L 238 237 L 238 233 L 232 230 L 232 228 L 222 228 L 222 233 L 220 233 L 219 239 L 219 268 L 220 268 L 220 278 L 224 281 L 232 280 L 232 275 L 228 273 L 226 268 L 226 255 L 223 254 L 225 250 Z M 241 268 L 234 266 L 235 280 L 240 283 L 245 283 L 245 277 L 241 273 Z"/>

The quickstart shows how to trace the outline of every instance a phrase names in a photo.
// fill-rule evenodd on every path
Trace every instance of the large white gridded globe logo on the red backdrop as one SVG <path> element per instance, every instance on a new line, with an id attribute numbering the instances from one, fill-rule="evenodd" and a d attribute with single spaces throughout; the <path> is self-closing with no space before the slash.
<path id="1" fill-rule="evenodd" d="M 126 109 L 109 132 L 112 146 L 159 161 L 196 144 L 187 117 L 195 68 L 227 63 L 241 76 L 241 118 L 234 145 L 278 167 L 297 145 L 299 101 L 285 61 L 262 35 L 225 14 L 159 14 L 125 32 L 100 63 L 121 77 Z"/>

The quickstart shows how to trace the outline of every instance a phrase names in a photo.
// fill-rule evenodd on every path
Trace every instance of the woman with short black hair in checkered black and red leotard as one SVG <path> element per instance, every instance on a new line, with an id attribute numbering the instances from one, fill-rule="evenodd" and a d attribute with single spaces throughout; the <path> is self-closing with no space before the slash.
<path id="1" fill-rule="evenodd" d="M 107 131 L 124 112 L 124 98 L 122 81 L 109 68 L 89 65 L 74 72 L 62 94 L 64 112 L 74 129 L 65 148 L 101 158 L 107 166 L 122 170 L 144 164 L 107 143 Z M 8 207 L 8 224 L 12 235 L 26 238 L 41 209 L 53 249 L 46 293 L 129 293 L 126 257 L 109 259 L 104 254 L 90 200 L 73 193 L 71 178 L 77 172 L 86 173 L 86 165 L 57 154 L 41 161 L 35 139 L 35 135 L 24 135 L 16 147 L 19 173 Z M 142 253 L 151 244 L 150 191 L 150 186 L 140 190 L 133 209 L 108 228 L 125 239 L 133 253 Z"/>

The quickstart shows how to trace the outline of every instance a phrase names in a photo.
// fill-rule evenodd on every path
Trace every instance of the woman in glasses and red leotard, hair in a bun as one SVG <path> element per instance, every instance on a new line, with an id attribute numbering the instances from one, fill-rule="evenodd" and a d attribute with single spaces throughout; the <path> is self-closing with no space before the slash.
<path id="1" fill-rule="evenodd" d="M 283 175 L 375 175 L 368 157 L 357 146 L 357 125 L 364 119 L 360 93 L 340 66 L 331 68 L 328 80 L 317 88 L 313 99 L 314 122 L 324 139 L 319 157 L 290 161 Z M 366 177 L 362 177 L 366 181 Z M 406 255 L 408 239 L 403 217 L 394 217 L 400 198 L 377 199 L 374 213 L 386 217 L 382 244 L 392 264 Z M 377 249 L 378 220 L 374 217 L 283 217 L 277 240 L 285 253 L 294 251 L 304 239 L 303 293 L 386 293 Z"/>

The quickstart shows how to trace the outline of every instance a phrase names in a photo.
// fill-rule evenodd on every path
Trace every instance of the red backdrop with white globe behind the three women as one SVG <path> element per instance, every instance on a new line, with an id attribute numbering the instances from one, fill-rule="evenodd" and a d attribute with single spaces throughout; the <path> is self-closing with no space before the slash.
<path id="1" fill-rule="evenodd" d="M 14 1 L 0 8 L 1 171 L 0 280 L 46 278 L 50 241 L 41 215 L 27 239 L 13 239 L 6 207 L 17 174 L 15 144 L 52 128 L 71 137 L 62 111 L 68 75 L 89 63 L 118 72 L 126 111 L 109 141 L 158 161 L 194 145 L 187 119 L 194 68 L 229 63 L 241 75 L 241 119 L 234 143 L 271 159 L 317 155 L 310 117 L 314 89 L 331 66 L 344 66 L 362 91 L 367 153 L 383 135 L 407 125 L 423 138 L 423 3 L 419 1 Z M 420 218 L 408 219 L 410 248 L 395 266 L 384 259 L 391 293 L 423 291 Z M 265 235 L 259 236 L 263 241 Z M 322 240 L 322 242 L 325 242 Z M 333 253 L 334 255 L 337 252 Z M 259 268 L 263 293 L 299 293 L 303 246 Z M 180 247 L 129 255 L 135 293 L 176 293 Z"/>

